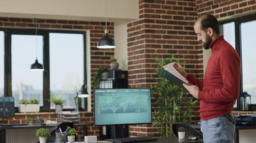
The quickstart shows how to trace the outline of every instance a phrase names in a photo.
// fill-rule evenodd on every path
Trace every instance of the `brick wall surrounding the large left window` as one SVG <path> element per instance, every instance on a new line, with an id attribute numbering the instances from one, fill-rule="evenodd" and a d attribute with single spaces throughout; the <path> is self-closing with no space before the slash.
<path id="1" fill-rule="evenodd" d="M 95 71 L 98 68 L 108 67 L 110 68 L 110 57 L 114 56 L 114 49 L 98 49 L 97 41 L 103 37 L 105 22 L 94 22 L 94 21 L 74 21 L 74 20 L 53 20 L 53 19 L 38 19 L 38 29 L 54 29 L 54 30 L 68 30 L 68 31 L 87 31 L 90 32 L 90 45 L 91 45 L 91 80 L 94 76 Z M 9 18 L 0 17 L 0 28 L 35 28 L 36 24 L 34 19 L 31 18 Z M 114 38 L 114 23 L 108 23 L 108 30 L 110 37 Z M 93 90 L 92 90 L 93 91 Z M 92 123 L 94 122 L 93 116 L 93 93 L 92 95 L 92 110 L 90 112 L 81 112 L 80 123 Z M 40 113 L 41 114 L 41 113 Z M 39 114 L 39 115 L 40 115 Z M 43 113 L 43 118 L 56 120 L 56 115 L 52 112 Z M 0 118 L 0 123 L 24 123 L 26 118 L 30 115 L 18 115 L 14 118 Z M 23 118 L 25 117 L 25 119 Z M 34 117 L 34 115 L 32 116 Z M 79 129 L 80 130 L 80 129 Z M 82 129 L 81 129 L 82 131 Z M 81 136 L 78 136 L 79 140 L 83 140 Z M 99 138 L 99 127 L 88 127 L 89 135 L 97 135 Z"/>

